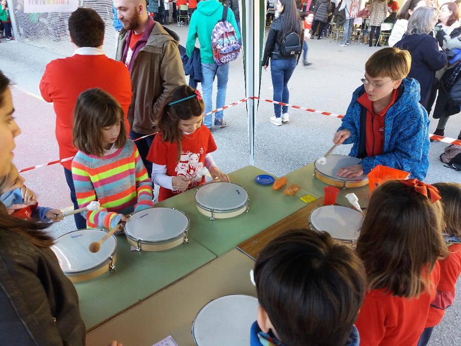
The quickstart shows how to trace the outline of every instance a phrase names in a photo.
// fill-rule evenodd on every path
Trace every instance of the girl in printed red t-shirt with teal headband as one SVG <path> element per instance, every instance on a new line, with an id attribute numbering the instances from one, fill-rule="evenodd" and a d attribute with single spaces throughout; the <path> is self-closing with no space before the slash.
<path id="1" fill-rule="evenodd" d="M 161 133 L 147 156 L 153 162 L 152 181 L 160 185 L 159 201 L 204 184 L 204 168 L 213 179 L 229 181 L 210 154 L 217 148 L 209 129 L 202 126 L 203 109 L 198 90 L 182 85 L 172 90 L 159 112 Z"/>

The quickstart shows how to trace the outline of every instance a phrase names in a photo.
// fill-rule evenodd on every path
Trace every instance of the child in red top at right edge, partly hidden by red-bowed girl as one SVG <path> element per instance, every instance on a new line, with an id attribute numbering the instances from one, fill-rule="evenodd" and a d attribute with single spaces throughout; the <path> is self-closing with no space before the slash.
<path id="1" fill-rule="evenodd" d="M 427 345 L 433 328 L 444 317 L 445 309 L 453 303 L 456 280 L 461 273 L 461 184 L 437 182 L 434 186 L 442 197 L 445 220 L 444 238 L 449 255 L 439 261 L 440 281 L 437 285 L 437 294 L 431 302 L 426 328 L 418 346 Z"/>

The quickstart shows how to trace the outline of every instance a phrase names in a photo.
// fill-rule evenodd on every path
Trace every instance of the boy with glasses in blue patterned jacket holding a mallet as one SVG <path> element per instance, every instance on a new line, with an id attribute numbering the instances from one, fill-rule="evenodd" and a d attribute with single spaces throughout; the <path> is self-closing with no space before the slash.
<path id="1" fill-rule="evenodd" d="M 429 168 L 429 117 L 420 101 L 420 84 L 406 78 L 411 56 L 406 50 L 383 48 L 365 64 L 363 86 L 352 94 L 333 143 L 353 144 L 350 156 L 361 164 L 341 168 L 337 175 L 358 177 L 376 165 L 424 179 Z"/>

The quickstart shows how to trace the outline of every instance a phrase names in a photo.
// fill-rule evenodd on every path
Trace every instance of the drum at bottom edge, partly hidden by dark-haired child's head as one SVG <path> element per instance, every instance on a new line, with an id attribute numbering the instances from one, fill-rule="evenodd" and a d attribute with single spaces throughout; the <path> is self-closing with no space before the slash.
<path id="1" fill-rule="evenodd" d="M 258 299 L 233 294 L 207 303 L 195 316 L 192 336 L 198 346 L 250 344 L 250 328 L 258 314 Z"/>

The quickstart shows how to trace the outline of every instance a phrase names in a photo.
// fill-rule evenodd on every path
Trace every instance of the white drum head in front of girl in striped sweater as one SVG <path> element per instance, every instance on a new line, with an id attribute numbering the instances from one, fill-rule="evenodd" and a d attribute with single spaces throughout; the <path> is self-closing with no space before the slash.
<path id="1" fill-rule="evenodd" d="M 156 242 L 177 238 L 188 226 L 189 219 L 183 212 L 155 207 L 131 215 L 125 223 L 125 233 L 135 239 Z"/>

